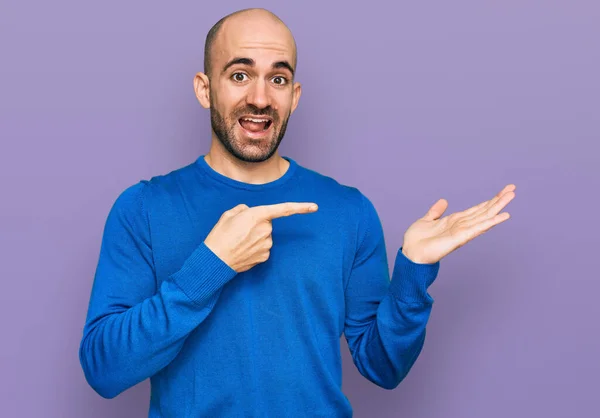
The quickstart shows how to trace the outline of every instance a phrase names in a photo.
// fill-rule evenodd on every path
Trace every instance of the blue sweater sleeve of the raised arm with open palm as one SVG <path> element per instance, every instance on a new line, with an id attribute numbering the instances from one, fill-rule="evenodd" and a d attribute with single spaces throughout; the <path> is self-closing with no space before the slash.
<path id="1" fill-rule="evenodd" d="M 412 262 L 400 248 L 390 282 L 380 219 L 362 194 L 361 202 L 358 248 L 346 287 L 344 334 L 359 372 L 382 388 L 394 389 L 423 348 L 433 305 L 427 288 L 440 264 Z"/>

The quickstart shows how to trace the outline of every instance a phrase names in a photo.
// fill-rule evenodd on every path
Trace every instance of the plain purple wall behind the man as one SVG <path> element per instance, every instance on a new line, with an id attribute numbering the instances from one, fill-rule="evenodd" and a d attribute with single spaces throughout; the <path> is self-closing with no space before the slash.
<path id="1" fill-rule="evenodd" d="M 600 6 L 377 0 L 253 6 L 299 45 L 304 93 L 282 153 L 374 202 L 390 261 L 440 197 L 507 183 L 512 218 L 442 260 L 429 334 L 394 391 L 362 378 L 357 417 L 592 417 L 600 384 Z M 192 78 L 204 36 L 247 2 L 0 6 L 0 415 L 143 417 L 78 344 L 104 221 L 141 178 L 208 150 Z"/>

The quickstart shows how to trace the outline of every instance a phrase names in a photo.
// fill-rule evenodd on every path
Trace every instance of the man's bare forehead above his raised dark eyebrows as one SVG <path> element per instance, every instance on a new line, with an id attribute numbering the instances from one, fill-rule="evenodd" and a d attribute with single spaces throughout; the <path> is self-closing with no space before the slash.
<path id="1" fill-rule="evenodd" d="M 257 65 L 286 60 L 295 65 L 295 43 L 289 30 L 270 19 L 232 19 L 221 28 L 213 56 L 219 67 L 235 57 L 253 58 Z"/>

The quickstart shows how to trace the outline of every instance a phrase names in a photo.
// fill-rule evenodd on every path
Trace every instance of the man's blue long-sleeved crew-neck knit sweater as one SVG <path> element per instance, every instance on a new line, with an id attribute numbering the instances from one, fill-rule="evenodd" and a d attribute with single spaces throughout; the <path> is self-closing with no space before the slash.
<path id="1" fill-rule="evenodd" d="M 342 335 L 374 384 L 393 389 L 407 375 L 439 262 L 400 248 L 390 281 L 369 199 L 285 158 L 268 184 L 225 177 L 201 156 L 118 196 L 79 351 L 98 394 L 150 378 L 150 417 L 350 417 Z M 236 273 L 203 244 L 224 211 L 287 201 L 319 210 L 274 219 L 266 262 Z"/>

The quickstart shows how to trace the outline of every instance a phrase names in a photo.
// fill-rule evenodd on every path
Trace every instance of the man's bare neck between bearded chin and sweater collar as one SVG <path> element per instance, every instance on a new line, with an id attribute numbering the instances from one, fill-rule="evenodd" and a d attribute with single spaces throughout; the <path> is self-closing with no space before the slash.
<path id="1" fill-rule="evenodd" d="M 204 159 L 216 172 L 249 184 L 275 181 L 285 174 L 290 165 L 277 151 L 268 160 L 262 162 L 241 161 L 231 155 L 217 139 L 213 139 L 210 150 Z"/>

